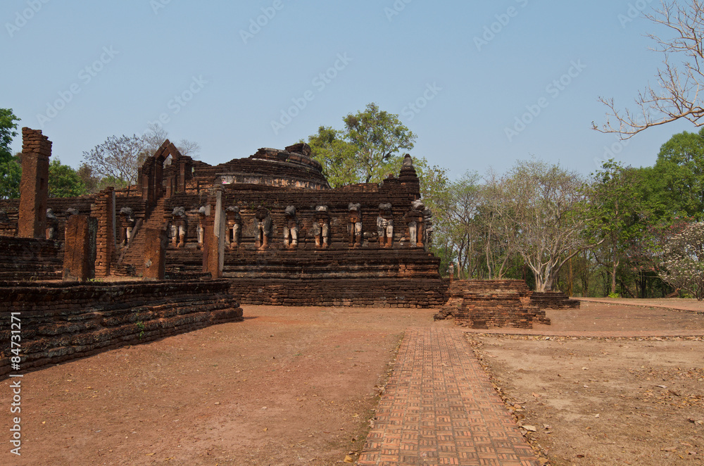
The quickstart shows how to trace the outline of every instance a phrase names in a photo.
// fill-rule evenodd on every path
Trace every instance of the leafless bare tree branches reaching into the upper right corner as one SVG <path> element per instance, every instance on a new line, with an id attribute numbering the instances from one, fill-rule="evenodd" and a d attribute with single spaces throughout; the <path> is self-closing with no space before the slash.
<path id="1" fill-rule="evenodd" d="M 704 85 L 704 2 L 663 0 L 653 13 L 643 15 L 653 23 L 669 28 L 672 37 L 648 34 L 657 44 L 653 50 L 664 53 L 665 60 L 657 73 L 660 88 L 648 86 L 639 92 L 636 110 L 621 111 L 614 99 L 599 98 L 608 107 L 609 113 L 602 127 L 592 122 L 593 129 L 617 133 L 621 139 L 629 139 L 649 127 L 683 118 L 696 126 L 704 125 L 704 107 L 700 96 Z M 677 55 L 681 63 L 673 63 L 671 55 Z"/>

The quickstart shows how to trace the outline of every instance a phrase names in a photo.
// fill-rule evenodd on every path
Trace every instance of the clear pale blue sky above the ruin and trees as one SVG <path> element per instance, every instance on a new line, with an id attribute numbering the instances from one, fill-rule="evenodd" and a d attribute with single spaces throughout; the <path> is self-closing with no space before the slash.
<path id="1" fill-rule="evenodd" d="M 417 134 L 412 155 L 453 177 L 531 156 L 584 175 L 611 156 L 652 165 L 672 134 L 696 128 L 623 146 L 591 122 L 605 121 L 599 96 L 632 106 L 655 82 L 662 56 L 644 34 L 662 30 L 636 13 L 657 3 L 3 0 L 0 108 L 74 168 L 160 118 L 215 164 L 341 128 L 370 102 Z"/>

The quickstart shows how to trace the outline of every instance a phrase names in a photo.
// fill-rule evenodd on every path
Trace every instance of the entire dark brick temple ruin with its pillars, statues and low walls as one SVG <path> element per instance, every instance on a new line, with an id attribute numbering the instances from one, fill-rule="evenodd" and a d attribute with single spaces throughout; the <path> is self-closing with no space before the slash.
<path id="1" fill-rule="evenodd" d="M 432 213 L 409 155 L 381 183 L 335 189 L 310 155 L 295 144 L 208 165 L 166 140 L 136 186 L 49 198 L 51 142 L 23 128 L 20 199 L 0 200 L 0 301 L 35 328 L 29 360 L 241 320 L 240 304 L 446 306 L 461 325 L 546 322 L 515 286 L 474 282 L 494 290 L 481 311 L 457 301 L 471 293 L 429 252 Z M 496 289 L 520 296 L 501 301 Z"/>

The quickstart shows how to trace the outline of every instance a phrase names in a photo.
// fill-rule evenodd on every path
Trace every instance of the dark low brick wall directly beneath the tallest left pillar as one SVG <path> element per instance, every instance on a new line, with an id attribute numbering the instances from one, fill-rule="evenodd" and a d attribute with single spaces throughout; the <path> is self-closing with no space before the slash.
<path id="1" fill-rule="evenodd" d="M 0 236 L 0 280 L 61 279 L 63 244 L 50 239 Z"/>

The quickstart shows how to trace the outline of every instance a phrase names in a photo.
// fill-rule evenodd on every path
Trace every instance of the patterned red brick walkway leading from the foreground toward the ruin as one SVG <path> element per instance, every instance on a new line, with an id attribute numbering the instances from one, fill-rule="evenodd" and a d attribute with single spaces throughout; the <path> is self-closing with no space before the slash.
<path id="1" fill-rule="evenodd" d="M 408 329 L 358 466 L 534 466 L 461 329 Z"/>

